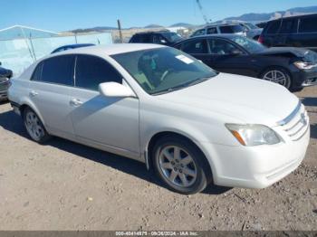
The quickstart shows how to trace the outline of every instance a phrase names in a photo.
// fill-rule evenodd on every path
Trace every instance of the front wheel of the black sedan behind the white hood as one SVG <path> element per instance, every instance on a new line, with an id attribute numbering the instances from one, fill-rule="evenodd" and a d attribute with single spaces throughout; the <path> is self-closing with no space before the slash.
<path id="1" fill-rule="evenodd" d="M 288 90 L 292 89 L 292 77 L 290 72 L 284 70 L 283 68 L 273 67 L 266 69 L 260 78 L 266 81 L 272 81 L 274 83 L 280 84 Z"/>

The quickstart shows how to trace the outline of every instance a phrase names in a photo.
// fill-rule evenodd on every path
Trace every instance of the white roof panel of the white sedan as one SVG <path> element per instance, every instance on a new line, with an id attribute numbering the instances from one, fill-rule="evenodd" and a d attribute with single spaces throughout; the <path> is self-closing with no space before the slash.
<path id="1" fill-rule="evenodd" d="M 90 47 L 76 48 L 64 52 L 58 52 L 53 55 L 61 54 L 72 54 L 72 53 L 83 53 L 83 54 L 94 54 L 94 55 L 113 55 L 124 52 L 135 52 L 141 50 L 150 50 L 166 47 L 160 44 L 152 43 L 115 43 L 108 45 L 98 45 Z"/>

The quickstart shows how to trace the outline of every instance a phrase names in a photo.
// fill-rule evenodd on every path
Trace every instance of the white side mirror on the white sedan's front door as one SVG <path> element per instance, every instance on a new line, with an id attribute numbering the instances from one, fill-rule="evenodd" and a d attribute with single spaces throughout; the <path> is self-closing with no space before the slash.
<path id="1" fill-rule="evenodd" d="M 105 97 L 136 97 L 133 90 L 117 82 L 101 83 L 99 91 Z"/>

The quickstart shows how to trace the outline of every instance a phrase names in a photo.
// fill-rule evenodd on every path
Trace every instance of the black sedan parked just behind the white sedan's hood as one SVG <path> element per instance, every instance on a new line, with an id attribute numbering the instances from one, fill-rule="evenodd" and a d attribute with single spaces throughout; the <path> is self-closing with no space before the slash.
<path id="1" fill-rule="evenodd" d="M 200 36 L 174 45 L 216 71 L 274 81 L 289 90 L 317 84 L 317 53 L 300 48 L 266 48 L 234 35 Z"/>

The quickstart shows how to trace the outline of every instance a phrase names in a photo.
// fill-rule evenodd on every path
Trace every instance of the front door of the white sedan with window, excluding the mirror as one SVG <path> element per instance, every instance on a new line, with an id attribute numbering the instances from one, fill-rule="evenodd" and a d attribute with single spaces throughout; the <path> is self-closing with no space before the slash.
<path id="1" fill-rule="evenodd" d="M 124 84 L 120 73 L 104 59 L 78 55 L 74 78 L 71 114 L 77 139 L 123 156 L 139 156 L 139 99 L 105 97 L 98 91 L 102 82 Z"/>

